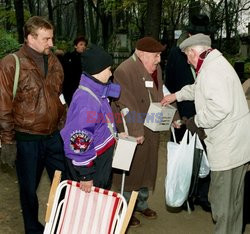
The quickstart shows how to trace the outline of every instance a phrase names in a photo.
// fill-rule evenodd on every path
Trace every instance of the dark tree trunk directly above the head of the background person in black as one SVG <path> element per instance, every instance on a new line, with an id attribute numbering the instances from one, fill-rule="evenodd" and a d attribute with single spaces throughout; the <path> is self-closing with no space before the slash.
<path id="1" fill-rule="evenodd" d="M 85 35 L 85 18 L 84 18 L 84 2 L 83 0 L 76 0 L 76 23 L 77 23 L 77 35 Z"/>

